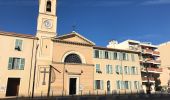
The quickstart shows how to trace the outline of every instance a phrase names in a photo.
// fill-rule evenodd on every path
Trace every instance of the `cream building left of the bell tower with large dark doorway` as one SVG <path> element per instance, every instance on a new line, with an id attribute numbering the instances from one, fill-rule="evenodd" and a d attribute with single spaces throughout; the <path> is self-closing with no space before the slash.
<path id="1" fill-rule="evenodd" d="M 0 32 L 0 97 L 28 96 L 37 38 Z"/>

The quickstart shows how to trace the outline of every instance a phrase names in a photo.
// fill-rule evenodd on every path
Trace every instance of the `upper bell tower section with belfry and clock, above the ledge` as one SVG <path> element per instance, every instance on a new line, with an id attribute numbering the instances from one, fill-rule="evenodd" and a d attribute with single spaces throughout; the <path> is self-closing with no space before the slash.
<path id="1" fill-rule="evenodd" d="M 57 0 L 39 0 L 37 37 L 54 37 L 57 35 L 56 4 Z"/>

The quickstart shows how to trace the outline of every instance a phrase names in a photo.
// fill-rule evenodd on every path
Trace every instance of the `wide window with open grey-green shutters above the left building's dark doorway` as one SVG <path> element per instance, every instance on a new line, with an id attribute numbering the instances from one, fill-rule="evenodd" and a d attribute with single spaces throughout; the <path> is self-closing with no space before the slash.
<path id="1" fill-rule="evenodd" d="M 9 58 L 8 69 L 24 70 L 25 59 L 24 58 Z"/>

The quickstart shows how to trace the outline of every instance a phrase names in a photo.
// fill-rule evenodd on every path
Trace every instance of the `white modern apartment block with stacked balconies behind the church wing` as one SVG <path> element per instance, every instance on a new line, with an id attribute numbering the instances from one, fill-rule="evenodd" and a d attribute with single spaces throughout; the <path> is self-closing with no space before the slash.
<path id="1" fill-rule="evenodd" d="M 126 40 L 121 43 L 111 41 L 107 47 L 140 52 L 139 60 L 144 90 L 150 90 L 151 92 L 160 90 L 160 74 L 162 73 L 162 68 L 160 66 L 160 53 L 157 46 L 146 42 Z"/>

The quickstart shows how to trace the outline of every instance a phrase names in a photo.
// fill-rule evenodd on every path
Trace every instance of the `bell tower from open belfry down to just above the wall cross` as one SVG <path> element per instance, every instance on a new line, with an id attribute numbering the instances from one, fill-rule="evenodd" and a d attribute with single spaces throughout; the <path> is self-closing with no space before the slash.
<path id="1" fill-rule="evenodd" d="M 38 59 L 52 61 L 53 41 L 57 36 L 57 0 L 39 0 L 39 14 L 37 20 Z"/>

